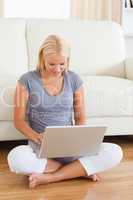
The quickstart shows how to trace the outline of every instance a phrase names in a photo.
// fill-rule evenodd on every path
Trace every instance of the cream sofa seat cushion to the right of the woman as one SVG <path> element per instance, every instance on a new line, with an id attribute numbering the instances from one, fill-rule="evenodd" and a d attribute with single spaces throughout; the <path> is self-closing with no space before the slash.
<path id="1" fill-rule="evenodd" d="M 88 117 L 133 116 L 133 81 L 111 76 L 83 76 Z"/>

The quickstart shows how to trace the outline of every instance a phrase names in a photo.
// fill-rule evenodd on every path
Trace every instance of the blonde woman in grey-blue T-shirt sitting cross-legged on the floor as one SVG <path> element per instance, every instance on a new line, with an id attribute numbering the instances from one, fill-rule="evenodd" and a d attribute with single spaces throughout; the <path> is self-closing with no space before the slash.
<path id="1" fill-rule="evenodd" d="M 103 143 L 98 155 L 39 159 L 42 133 L 46 126 L 86 123 L 81 78 L 69 71 L 70 48 L 56 35 L 42 44 L 37 69 L 25 73 L 17 83 L 14 98 L 14 125 L 28 140 L 8 154 L 10 170 L 29 175 L 29 187 L 76 177 L 98 181 L 98 172 L 117 165 L 121 148 Z M 27 121 L 25 118 L 27 117 Z"/>

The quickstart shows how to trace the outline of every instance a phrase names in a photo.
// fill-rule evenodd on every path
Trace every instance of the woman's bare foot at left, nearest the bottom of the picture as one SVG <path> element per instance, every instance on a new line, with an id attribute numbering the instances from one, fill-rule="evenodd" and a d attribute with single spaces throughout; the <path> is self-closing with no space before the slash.
<path id="1" fill-rule="evenodd" d="M 51 174 L 31 174 L 29 176 L 29 188 L 35 188 L 37 185 L 51 182 Z"/>

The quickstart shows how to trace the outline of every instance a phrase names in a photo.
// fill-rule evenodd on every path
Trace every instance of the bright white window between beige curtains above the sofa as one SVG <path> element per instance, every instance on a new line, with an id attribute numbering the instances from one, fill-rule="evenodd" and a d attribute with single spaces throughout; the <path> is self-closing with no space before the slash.
<path id="1" fill-rule="evenodd" d="M 4 0 L 4 17 L 69 18 L 71 0 Z"/>

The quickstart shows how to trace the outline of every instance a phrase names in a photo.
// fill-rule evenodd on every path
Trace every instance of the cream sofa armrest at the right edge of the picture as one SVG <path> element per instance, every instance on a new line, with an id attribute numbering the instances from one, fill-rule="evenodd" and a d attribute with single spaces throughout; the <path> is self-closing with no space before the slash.
<path id="1" fill-rule="evenodd" d="M 126 78 L 133 80 L 133 57 L 126 58 L 125 60 L 125 73 Z"/>

